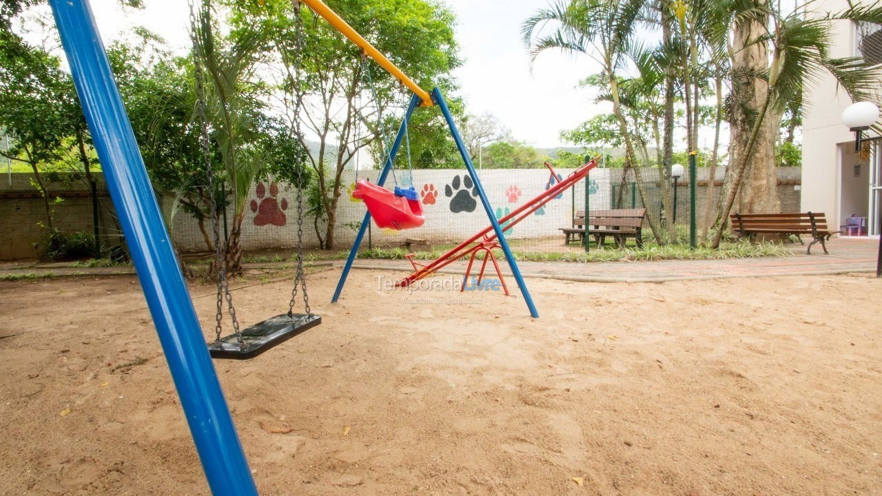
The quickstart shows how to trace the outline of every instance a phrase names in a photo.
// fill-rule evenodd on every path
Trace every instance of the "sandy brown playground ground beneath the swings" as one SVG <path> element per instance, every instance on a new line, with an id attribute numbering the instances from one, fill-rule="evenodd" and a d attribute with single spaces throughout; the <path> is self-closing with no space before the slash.
<path id="1" fill-rule="evenodd" d="M 882 494 L 875 279 L 531 279 L 534 320 L 392 275 L 313 274 L 323 326 L 216 362 L 262 494 Z M 134 278 L 0 283 L 0 316 L 0 492 L 208 492 Z"/>

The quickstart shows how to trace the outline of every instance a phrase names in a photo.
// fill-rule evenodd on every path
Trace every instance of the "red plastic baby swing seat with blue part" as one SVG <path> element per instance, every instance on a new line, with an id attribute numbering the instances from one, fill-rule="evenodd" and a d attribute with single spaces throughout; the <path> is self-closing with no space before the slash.
<path id="1" fill-rule="evenodd" d="M 426 218 L 422 203 L 414 188 L 395 188 L 395 192 L 359 179 L 352 196 L 364 201 L 377 227 L 385 229 L 414 229 L 422 226 Z"/>

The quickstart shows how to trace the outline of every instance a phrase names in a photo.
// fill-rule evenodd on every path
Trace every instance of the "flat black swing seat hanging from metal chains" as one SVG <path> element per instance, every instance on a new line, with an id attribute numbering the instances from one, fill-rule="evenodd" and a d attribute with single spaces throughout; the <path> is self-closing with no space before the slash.
<path id="1" fill-rule="evenodd" d="M 241 347 L 235 334 L 229 334 L 220 341 L 208 343 L 208 350 L 213 358 L 247 360 L 321 323 L 322 318 L 318 315 L 282 313 L 244 329 Z"/>

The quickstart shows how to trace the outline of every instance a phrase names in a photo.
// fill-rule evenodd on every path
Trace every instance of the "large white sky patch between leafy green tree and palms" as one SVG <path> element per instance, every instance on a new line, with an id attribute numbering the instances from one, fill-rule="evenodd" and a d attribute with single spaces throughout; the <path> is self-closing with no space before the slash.
<path id="1" fill-rule="evenodd" d="M 587 58 L 546 52 L 532 73 L 520 25 L 547 0 L 446 0 L 456 12 L 460 53 L 455 72 L 471 114 L 490 112 L 515 139 L 537 147 L 564 145 L 559 133 L 599 113 L 587 89 L 577 89 L 596 68 Z"/>

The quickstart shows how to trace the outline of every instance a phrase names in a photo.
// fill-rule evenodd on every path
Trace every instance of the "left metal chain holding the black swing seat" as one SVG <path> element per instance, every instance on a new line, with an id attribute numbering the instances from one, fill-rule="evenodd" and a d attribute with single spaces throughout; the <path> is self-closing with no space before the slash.
<path id="1" fill-rule="evenodd" d="M 193 1 L 188 0 L 190 6 L 190 25 L 191 38 L 193 42 L 193 69 L 196 76 L 196 96 L 197 109 L 199 113 L 199 141 L 202 146 L 202 156 L 206 163 L 206 176 L 208 177 L 208 207 L 212 213 L 212 229 L 214 237 L 214 265 L 217 267 L 217 312 L 215 313 L 214 325 L 214 341 L 221 341 L 221 332 L 223 330 L 223 300 L 227 299 L 229 308 L 229 316 L 233 320 L 233 332 L 239 348 L 243 347 L 242 334 L 239 331 L 239 321 L 235 317 L 235 307 L 233 306 L 233 297 L 229 293 L 229 284 L 227 281 L 227 265 L 221 252 L 221 227 L 220 219 L 218 219 L 217 200 L 214 195 L 214 174 L 212 170 L 212 154 L 211 144 L 208 139 L 208 118 L 206 117 L 206 100 L 205 100 L 205 77 L 202 71 L 202 64 L 199 62 L 198 56 L 198 40 L 197 40 L 197 24 L 196 13 L 193 8 Z"/>

